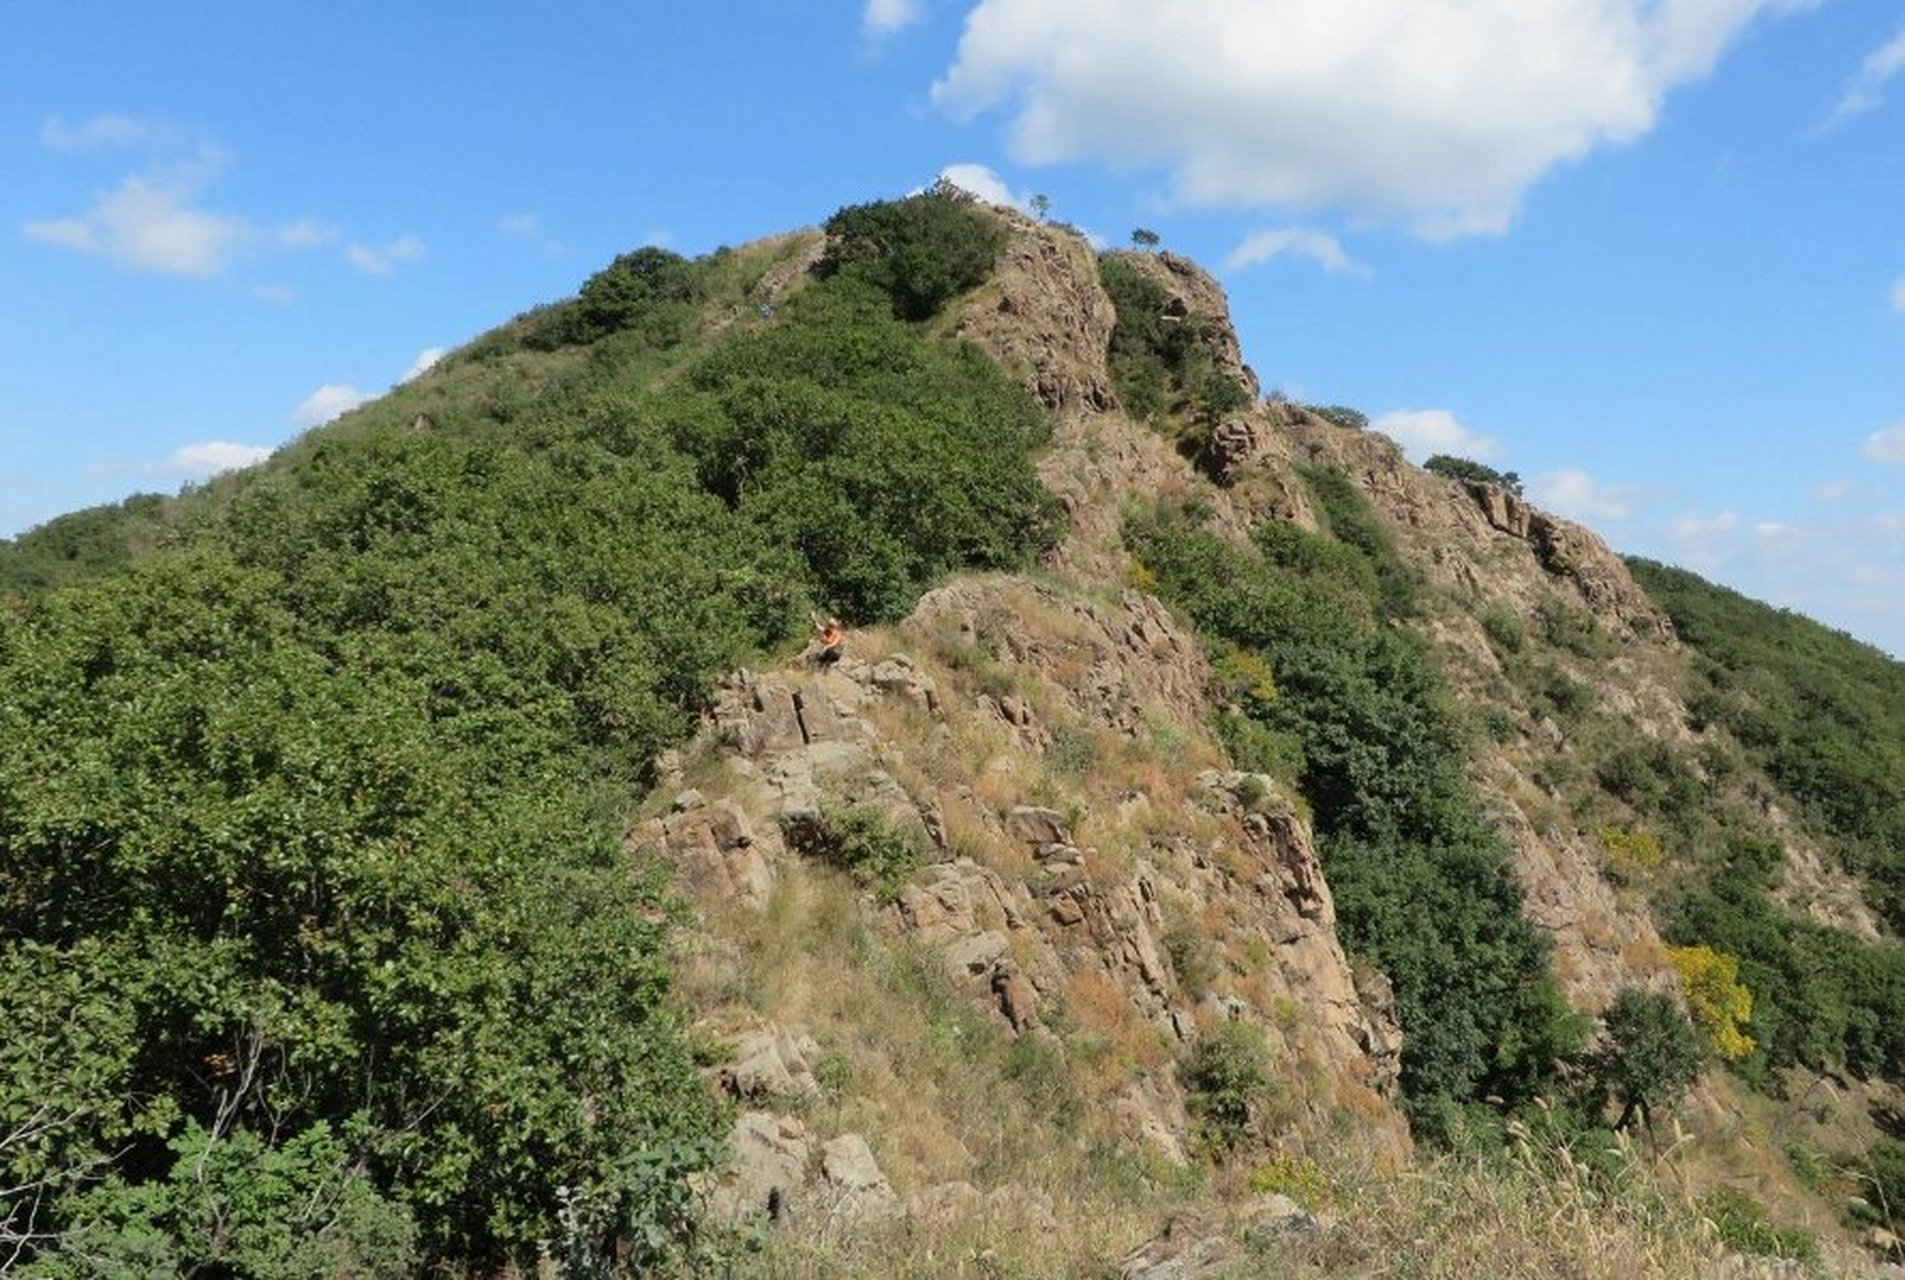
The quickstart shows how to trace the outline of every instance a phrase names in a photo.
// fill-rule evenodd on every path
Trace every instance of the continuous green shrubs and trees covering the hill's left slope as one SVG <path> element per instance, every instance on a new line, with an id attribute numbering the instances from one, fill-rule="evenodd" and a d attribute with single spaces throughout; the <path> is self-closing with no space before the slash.
<path id="1" fill-rule="evenodd" d="M 518 331 L 0 608 L 0 1185 L 44 1192 L 32 1267 L 547 1244 L 594 1274 L 688 1229 L 718 1124 L 631 787 L 812 604 L 895 615 L 1055 531 L 1044 419 L 975 350 L 853 272 L 760 333 L 650 324 L 707 270 L 617 259 L 587 350 Z"/>

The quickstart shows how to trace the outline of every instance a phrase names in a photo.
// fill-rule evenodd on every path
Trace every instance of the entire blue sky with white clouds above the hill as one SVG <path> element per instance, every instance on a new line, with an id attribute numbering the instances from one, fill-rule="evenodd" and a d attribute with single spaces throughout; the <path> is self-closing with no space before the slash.
<path id="1" fill-rule="evenodd" d="M 0 162 L 0 535 L 952 168 L 1215 269 L 1265 387 L 1905 653 L 1905 4 L 13 0 Z"/>

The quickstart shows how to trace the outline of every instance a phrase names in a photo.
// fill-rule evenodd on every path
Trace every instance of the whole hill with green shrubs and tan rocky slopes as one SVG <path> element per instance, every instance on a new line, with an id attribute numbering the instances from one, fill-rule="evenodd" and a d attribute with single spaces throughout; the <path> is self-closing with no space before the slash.
<path id="1" fill-rule="evenodd" d="M 1170 253 L 640 250 L 0 598 L 23 1274 L 1884 1265 L 1897 665 Z"/>

